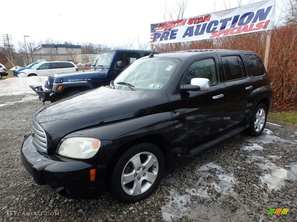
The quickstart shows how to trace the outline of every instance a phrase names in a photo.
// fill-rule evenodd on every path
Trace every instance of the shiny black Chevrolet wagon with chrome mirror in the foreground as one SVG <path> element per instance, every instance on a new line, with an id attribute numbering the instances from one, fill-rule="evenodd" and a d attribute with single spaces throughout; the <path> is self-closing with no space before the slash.
<path id="1" fill-rule="evenodd" d="M 105 188 L 137 202 L 156 189 L 165 166 L 244 130 L 259 136 L 272 97 L 254 52 L 143 57 L 110 83 L 42 108 L 21 160 L 37 184 L 65 197 L 94 199 Z"/>

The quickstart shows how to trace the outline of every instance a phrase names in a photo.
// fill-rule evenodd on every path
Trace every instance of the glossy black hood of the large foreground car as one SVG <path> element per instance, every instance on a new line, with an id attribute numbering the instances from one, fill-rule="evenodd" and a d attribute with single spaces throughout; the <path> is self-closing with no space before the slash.
<path id="1" fill-rule="evenodd" d="M 170 110 L 166 91 L 132 91 L 99 87 L 57 101 L 34 117 L 53 140 L 90 126 Z"/>

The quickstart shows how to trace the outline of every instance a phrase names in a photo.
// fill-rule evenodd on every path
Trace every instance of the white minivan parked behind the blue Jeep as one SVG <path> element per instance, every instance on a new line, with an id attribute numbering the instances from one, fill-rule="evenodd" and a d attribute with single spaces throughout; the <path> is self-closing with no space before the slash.
<path id="1" fill-rule="evenodd" d="M 18 73 L 18 77 L 29 76 L 48 76 L 57 73 L 75 72 L 78 67 L 73 62 L 55 61 L 55 62 L 40 62 L 31 68 L 24 69 Z"/>

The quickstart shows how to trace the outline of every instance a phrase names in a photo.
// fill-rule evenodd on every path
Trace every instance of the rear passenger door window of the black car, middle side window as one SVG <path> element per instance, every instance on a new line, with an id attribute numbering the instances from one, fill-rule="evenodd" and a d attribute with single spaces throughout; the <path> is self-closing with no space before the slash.
<path id="1" fill-rule="evenodd" d="M 239 56 L 223 56 L 222 63 L 226 79 L 228 81 L 247 77 L 241 57 Z"/>

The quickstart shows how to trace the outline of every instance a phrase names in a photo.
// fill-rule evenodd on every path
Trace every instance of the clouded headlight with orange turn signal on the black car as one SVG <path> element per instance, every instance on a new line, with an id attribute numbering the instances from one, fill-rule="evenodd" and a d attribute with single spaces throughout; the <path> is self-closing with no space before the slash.
<path id="1" fill-rule="evenodd" d="M 62 156 L 87 159 L 93 157 L 100 147 L 100 140 L 91 137 L 70 137 L 59 147 Z"/>

